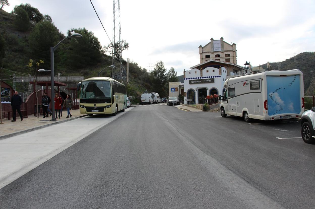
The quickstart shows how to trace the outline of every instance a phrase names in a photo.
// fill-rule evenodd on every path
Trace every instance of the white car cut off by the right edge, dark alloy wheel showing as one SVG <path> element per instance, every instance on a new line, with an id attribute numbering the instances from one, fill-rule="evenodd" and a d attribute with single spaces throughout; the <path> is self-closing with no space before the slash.
<path id="1" fill-rule="evenodd" d="M 301 125 L 302 139 L 308 144 L 313 144 L 315 142 L 315 107 L 302 114 Z"/>

